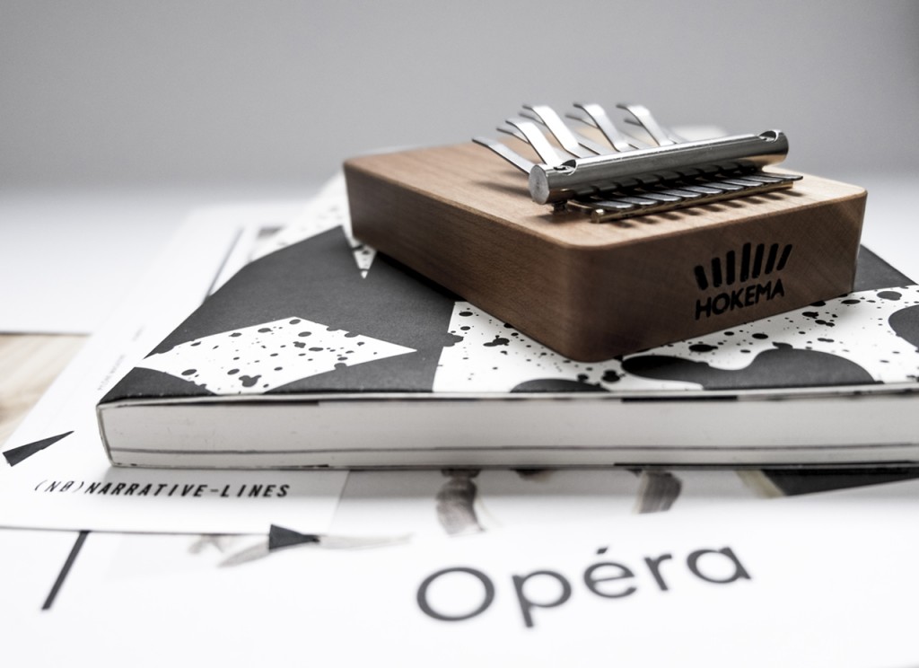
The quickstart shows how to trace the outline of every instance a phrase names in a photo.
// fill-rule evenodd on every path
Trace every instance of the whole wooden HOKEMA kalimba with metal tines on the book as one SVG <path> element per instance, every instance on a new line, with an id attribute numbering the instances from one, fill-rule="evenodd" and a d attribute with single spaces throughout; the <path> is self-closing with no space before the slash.
<path id="1" fill-rule="evenodd" d="M 574 105 L 578 130 L 531 105 L 506 142 L 348 160 L 353 232 L 585 361 L 852 289 L 864 189 L 777 170 L 778 130 L 686 141 L 619 108 L 641 133 L 596 104 Z"/>

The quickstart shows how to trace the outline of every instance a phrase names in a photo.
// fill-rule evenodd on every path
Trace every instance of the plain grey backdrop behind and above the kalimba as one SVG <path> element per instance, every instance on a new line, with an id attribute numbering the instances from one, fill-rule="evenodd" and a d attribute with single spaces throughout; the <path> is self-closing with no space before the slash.
<path id="1" fill-rule="evenodd" d="M 919 3 L 0 0 L 0 185 L 296 187 L 573 100 L 914 170 Z"/>

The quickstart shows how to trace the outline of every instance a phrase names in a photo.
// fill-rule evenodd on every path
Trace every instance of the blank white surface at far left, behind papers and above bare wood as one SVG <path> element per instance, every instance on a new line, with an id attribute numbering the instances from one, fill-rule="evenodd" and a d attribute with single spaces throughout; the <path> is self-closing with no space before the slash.
<path id="1" fill-rule="evenodd" d="M 303 192 L 16 190 L 0 192 L 0 332 L 91 334 L 127 297 L 193 209 L 257 199 L 287 219 Z"/>

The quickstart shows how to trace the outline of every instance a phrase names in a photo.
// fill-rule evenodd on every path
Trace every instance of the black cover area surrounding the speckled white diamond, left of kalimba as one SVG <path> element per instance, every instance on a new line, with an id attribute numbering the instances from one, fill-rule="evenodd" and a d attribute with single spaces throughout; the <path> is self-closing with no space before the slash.
<path id="1" fill-rule="evenodd" d="M 335 228 L 265 255 L 244 266 L 166 336 L 151 354 L 214 334 L 255 324 L 305 318 L 330 330 L 344 330 L 413 349 L 404 356 L 344 365 L 305 375 L 271 390 L 431 391 L 457 297 L 385 255 L 377 255 L 361 277 L 345 232 Z M 135 368 L 101 403 L 138 398 L 213 394 L 187 379 Z"/>

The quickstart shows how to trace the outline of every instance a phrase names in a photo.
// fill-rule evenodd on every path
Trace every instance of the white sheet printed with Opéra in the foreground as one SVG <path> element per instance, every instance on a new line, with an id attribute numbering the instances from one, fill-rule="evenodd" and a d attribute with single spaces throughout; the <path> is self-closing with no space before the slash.
<path id="1" fill-rule="evenodd" d="M 902 528 L 917 494 L 911 481 L 381 549 L 311 544 L 223 568 L 217 546 L 191 537 L 92 534 L 53 608 L 20 617 L 13 649 L 53 637 L 45 659 L 105 647 L 140 666 L 295 655 L 405 666 L 912 665 L 919 539 Z M 87 617 L 105 621 L 87 628 Z"/>

